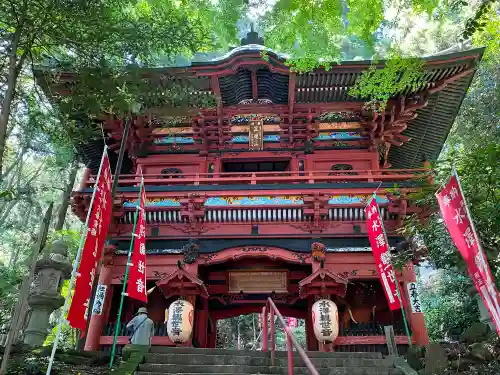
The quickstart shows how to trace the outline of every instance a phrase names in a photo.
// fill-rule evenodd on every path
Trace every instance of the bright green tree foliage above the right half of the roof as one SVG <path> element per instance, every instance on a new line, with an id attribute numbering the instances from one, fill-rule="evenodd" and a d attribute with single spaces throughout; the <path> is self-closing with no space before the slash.
<path id="1" fill-rule="evenodd" d="M 362 46 L 355 49 L 363 51 L 362 58 L 383 57 L 395 47 L 400 53 L 402 37 L 414 32 L 412 20 L 421 21 L 416 29 L 425 29 L 429 24 L 451 29 L 456 24 L 454 37 L 458 40 L 460 27 L 465 27 L 475 8 L 475 4 L 461 1 L 278 0 L 265 8 L 259 23 L 266 46 L 286 54 L 287 63 L 303 72 L 319 66 L 328 69 L 343 58 L 357 57 L 345 55 L 356 44 Z M 482 23 L 486 17 L 479 14 L 475 18 Z M 428 37 L 421 39 L 429 40 Z"/>

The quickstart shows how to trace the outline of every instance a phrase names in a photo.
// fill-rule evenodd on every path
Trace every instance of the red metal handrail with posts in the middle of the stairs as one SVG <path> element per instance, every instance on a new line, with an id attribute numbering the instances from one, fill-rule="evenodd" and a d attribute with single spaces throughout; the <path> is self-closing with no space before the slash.
<path id="1" fill-rule="evenodd" d="M 293 334 L 292 330 L 288 326 L 288 324 L 285 323 L 285 319 L 283 319 L 283 316 L 279 312 L 278 308 L 274 304 L 273 300 L 271 298 L 267 299 L 266 305 L 262 309 L 262 351 L 267 352 L 268 351 L 268 345 L 269 345 L 269 338 L 268 338 L 268 327 L 267 327 L 267 314 L 271 315 L 271 365 L 276 366 L 276 340 L 275 340 L 275 332 L 274 332 L 274 315 L 278 317 L 278 322 L 281 325 L 281 328 L 285 331 L 286 334 L 286 348 L 287 348 L 287 358 L 288 358 L 288 375 L 293 375 L 293 347 L 297 349 L 297 352 L 299 353 L 300 358 L 304 361 L 304 364 L 306 365 L 307 369 L 309 370 L 309 373 L 311 375 L 319 375 L 318 370 L 316 370 L 316 367 L 314 367 L 313 363 L 307 356 L 307 353 L 305 352 L 304 349 L 300 346 L 300 344 L 297 342 L 297 339 L 295 338 L 295 335 Z"/>

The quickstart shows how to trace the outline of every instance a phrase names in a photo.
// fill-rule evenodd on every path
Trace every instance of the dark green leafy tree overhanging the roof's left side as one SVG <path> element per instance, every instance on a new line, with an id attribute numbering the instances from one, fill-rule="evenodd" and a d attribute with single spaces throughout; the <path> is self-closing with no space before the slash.
<path id="1" fill-rule="evenodd" d="M 200 2 L 199 7 L 202 7 Z M 209 25 L 192 8 L 158 0 L 7 0 L 0 4 L 4 73 L 0 171 L 20 76 L 47 57 L 73 70 L 154 64 L 211 46 Z M 165 20 L 168 19 L 168 22 Z M 115 87 L 115 86 L 114 86 Z"/>

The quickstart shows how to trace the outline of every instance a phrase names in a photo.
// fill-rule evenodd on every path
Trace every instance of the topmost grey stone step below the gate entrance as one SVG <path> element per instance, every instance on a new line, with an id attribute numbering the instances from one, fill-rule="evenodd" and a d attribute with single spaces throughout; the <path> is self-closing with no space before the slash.
<path id="1" fill-rule="evenodd" d="M 270 358 L 270 353 L 250 350 L 228 350 L 228 349 L 208 349 L 208 348 L 186 348 L 186 347 L 170 347 L 170 346 L 152 346 L 150 353 L 155 354 L 191 354 L 191 355 L 228 355 L 228 356 L 260 356 Z M 277 351 L 277 357 L 287 357 L 286 351 Z M 298 353 L 294 352 L 294 356 Z M 372 358 L 381 359 L 382 354 L 378 352 L 307 352 L 309 358 Z"/>

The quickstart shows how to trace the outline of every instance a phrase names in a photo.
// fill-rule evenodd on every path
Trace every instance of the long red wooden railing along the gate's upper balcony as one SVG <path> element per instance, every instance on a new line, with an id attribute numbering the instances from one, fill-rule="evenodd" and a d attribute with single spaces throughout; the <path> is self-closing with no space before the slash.
<path id="1" fill-rule="evenodd" d="M 222 172 L 222 173 L 185 173 L 185 174 L 144 174 L 146 185 L 257 185 L 257 184 L 317 184 L 338 182 L 397 182 L 423 180 L 430 177 L 426 168 L 419 169 L 353 169 L 341 171 L 286 171 L 286 172 Z M 141 175 L 123 174 L 119 186 L 138 186 Z M 95 176 L 83 181 L 83 188 L 93 186 Z"/>

